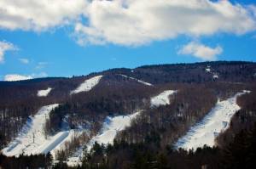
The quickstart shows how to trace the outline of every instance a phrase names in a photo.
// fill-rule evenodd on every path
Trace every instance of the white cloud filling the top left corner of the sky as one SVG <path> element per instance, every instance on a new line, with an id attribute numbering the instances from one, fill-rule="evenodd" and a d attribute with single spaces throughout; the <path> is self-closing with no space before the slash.
<path id="1" fill-rule="evenodd" d="M 0 27 L 42 31 L 77 20 L 86 0 L 1 0 Z"/>

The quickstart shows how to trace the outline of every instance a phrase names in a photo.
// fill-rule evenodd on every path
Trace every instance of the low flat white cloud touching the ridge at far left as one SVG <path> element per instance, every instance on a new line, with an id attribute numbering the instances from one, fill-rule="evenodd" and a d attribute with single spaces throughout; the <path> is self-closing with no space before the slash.
<path id="1" fill-rule="evenodd" d="M 39 78 L 39 77 L 46 77 L 48 76 L 47 73 L 32 73 L 32 75 L 19 75 L 19 74 L 9 74 L 5 75 L 3 81 L 24 81 L 32 78 Z"/>

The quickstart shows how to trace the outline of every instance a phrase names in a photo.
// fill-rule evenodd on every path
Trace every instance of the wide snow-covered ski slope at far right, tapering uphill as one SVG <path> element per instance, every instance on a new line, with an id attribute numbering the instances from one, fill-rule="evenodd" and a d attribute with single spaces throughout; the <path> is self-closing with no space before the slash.
<path id="1" fill-rule="evenodd" d="M 231 117 L 237 110 L 240 110 L 240 107 L 236 104 L 237 97 L 245 93 L 248 93 L 248 91 L 237 93 L 230 99 L 218 101 L 202 121 L 191 127 L 185 136 L 178 139 L 175 147 L 195 150 L 205 144 L 211 147 L 214 146 L 215 138 L 219 132 L 229 127 Z"/>

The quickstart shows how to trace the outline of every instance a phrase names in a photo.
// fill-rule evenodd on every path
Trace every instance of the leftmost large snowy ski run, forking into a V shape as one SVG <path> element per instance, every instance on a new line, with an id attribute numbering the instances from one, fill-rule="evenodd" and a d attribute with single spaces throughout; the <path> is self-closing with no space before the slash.
<path id="1" fill-rule="evenodd" d="M 54 137 L 47 139 L 44 137 L 45 121 L 49 116 L 49 112 L 57 106 L 58 104 L 43 106 L 36 115 L 30 116 L 17 138 L 3 149 L 3 154 L 18 156 L 22 153 L 25 155 L 46 153 L 55 144 L 60 143 L 67 135 L 66 132 L 59 132 Z"/>

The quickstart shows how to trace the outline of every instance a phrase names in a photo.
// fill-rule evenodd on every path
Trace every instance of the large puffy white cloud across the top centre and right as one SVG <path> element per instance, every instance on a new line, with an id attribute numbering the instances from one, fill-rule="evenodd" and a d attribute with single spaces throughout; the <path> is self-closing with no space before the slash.
<path id="1" fill-rule="evenodd" d="M 179 35 L 209 36 L 218 32 L 241 35 L 255 31 L 255 8 L 229 1 L 113 0 L 92 1 L 87 25 L 77 23 L 79 44 L 143 45 Z"/>

